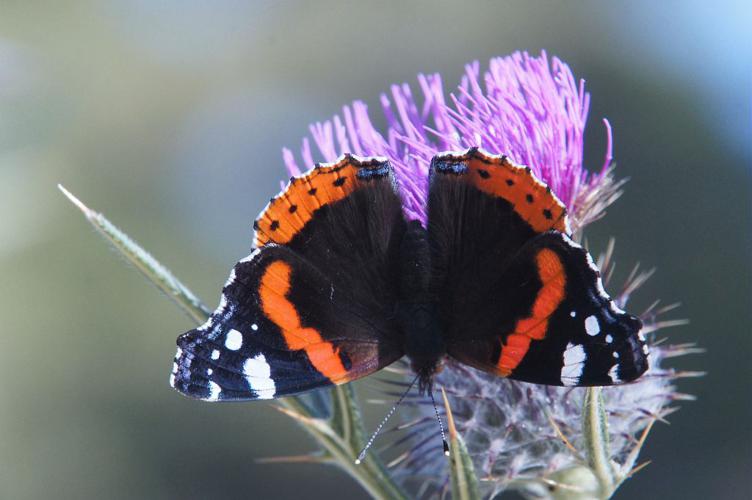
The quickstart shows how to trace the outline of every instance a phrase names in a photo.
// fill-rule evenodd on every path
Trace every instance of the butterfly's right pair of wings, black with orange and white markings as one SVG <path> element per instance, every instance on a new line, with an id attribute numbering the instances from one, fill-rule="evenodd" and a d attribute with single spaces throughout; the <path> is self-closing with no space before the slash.
<path id="1" fill-rule="evenodd" d="M 647 369 L 640 321 L 567 232 L 563 204 L 529 169 L 477 150 L 434 159 L 433 286 L 452 357 L 549 385 L 611 385 Z"/>

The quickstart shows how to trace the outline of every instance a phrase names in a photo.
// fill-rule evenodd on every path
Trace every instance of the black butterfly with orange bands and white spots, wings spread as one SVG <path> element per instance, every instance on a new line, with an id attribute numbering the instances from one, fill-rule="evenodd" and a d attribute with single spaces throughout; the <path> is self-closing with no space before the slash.
<path id="1" fill-rule="evenodd" d="M 216 311 L 181 335 L 170 384 L 209 401 L 271 399 L 407 356 L 428 392 L 451 358 L 557 386 L 633 381 L 638 318 L 603 289 L 567 211 L 530 168 L 471 148 L 435 156 L 427 222 L 406 220 L 384 158 L 345 154 L 290 179 Z"/>

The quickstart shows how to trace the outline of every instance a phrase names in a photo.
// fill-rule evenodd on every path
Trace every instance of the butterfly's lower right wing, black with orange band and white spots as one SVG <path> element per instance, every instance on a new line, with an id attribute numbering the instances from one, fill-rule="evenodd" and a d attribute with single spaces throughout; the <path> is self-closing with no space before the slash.
<path id="1" fill-rule="evenodd" d="M 555 231 L 537 236 L 510 264 L 495 292 L 489 302 L 501 311 L 510 297 L 527 297 L 525 312 L 512 321 L 503 320 L 503 312 L 491 315 L 485 336 L 458 338 L 450 355 L 502 376 L 548 385 L 613 385 L 647 370 L 640 320 L 614 304 L 587 251 L 568 236 Z"/>

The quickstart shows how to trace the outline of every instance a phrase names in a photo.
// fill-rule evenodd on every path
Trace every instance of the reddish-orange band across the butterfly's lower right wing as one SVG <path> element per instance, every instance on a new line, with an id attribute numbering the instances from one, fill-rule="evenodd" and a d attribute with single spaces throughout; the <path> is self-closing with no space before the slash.
<path id="1" fill-rule="evenodd" d="M 556 252 L 544 248 L 535 256 L 535 263 L 543 286 L 535 297 L 530 316 L 518 320 L 514 332 L 510 333 L 506 343 L 501 345 L 501 354 L 496 366 L 505 377 L 522 362 L 531 341 L 545 338 L 548 318 L 564 300 L 567 275 Z"/>

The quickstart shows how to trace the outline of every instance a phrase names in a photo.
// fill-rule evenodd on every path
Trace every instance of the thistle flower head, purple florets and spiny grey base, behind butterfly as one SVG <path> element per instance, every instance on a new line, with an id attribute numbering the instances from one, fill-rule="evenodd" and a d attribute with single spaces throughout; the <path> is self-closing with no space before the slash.
<path id="1" fill-rule="evenodd" d="M 623 183 L 614 179 L 611 167 L 607 120 L 603 120 L 607 138 L 603 163 L 595 172 L 584 168 L 590 96 L 584 81 L 576 81 L 561 60 L 549 59 L 545 52 L 538 57 L 517 52 L 492 59 L 482 76 L 478 62 L 468 64 L 459 87 L 448 98 L 438 74 L 418 75 L 418 82 L 422 102 L 406 84 L 393 85 L 389 95 L 381 96 L 388 125 L 384 134 L 373 126 L 366 104 L 360 101 L 343 107 L 341 115 L 329 121 L 311 125 L 311 138 L 303 139 L 300 150 L 302 164 L 315 162 L 312 143 L 316 156 L 328 162 L 346 152 L 386 156 L 396 172 L 406 216 L 425 224 L 431 158 L 442 151 L 478 146 L 529 166 L 568 207 L 579 239 L 621 194 Z M 283 158 L 288 172 L 298 175 L 301 169 L 293 152 L 284 149 Z M 613 271 L 612 253 L 613 244 L 600 258 L 605 281 Z M 650 274 L 636 268 L 616 295 L 617 303 L 624 306 Z M 624 469 L 616 474 L 622 479 L 637 458 L 641 445 L 637 436 L 671 413 L 673 401 L 688 397 L 676 392 L 673 381 L 692 374 L 665 368 L 663 362 L 691 352 L 691 346 L 664 346 L 655 340 L 658 329 L 683 323 L 660 319 L 671 308 L 658 308 L 656 303 L 641 315 L 652 344 L 650 371 L 637 383 L 602 393 L 611 446 L 607 459 Z M 555 497 L 556 487 L 571 486 L 572 480 L 575 489 L 583 487 L 583 495 L 588 493 L 582 477 L 591 477 L 594 471 L 583 466 L 582 454 L 576 451 L 588 440 L 582 425 L 585 389 L 519 383 L 451 361 L 436 382 L 449 396 L 456 427 L 483 480 L 484 493 L 493 496 L 512 487 L 531 497 Z M 422 404 L 415 408 L 415 418 L 402 426 L 409 429 L 410 448 L 391 465 L 404 482 L 418 483 L 420 492 L 441 490 L 448 485 L 447 461 L 440 453 L 427 452 L 436 440 L 433 409 Z M 609 467 L 615 468 L 614 464 Z"/>

